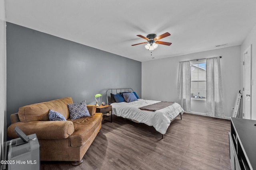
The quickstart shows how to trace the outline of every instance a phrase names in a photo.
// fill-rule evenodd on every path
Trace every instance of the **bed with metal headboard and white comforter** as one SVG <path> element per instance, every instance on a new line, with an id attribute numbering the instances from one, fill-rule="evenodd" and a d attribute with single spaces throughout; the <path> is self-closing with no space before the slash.
<path id="1" fill-rule="evenodd" d="M 137 100 L 132 102 L 116 102 L 114 100 L 114 97 L 120 96 L 120 94 L 124 95 L 124 93 L 134 93 Z M 130 119 L 137 123 L 144 123 L 148 126 L 153 126 L 156 131 L 162 134 L 162 138 L 170 126 L 170 123 L 178 115 L 180 115 L 180 119 L 182 119 L 182 114 L 184 113 L 182 107 L 175 102 L 170 106 L 166 106 L 156 111 L 141 110 L 140 107 L 152 106 L 153 104 L 161 101 L 139 99 L 132 88 L 108 89 L 106 91 L 106 96 L 107 103 L 112 106 L 113 115 Z"/>

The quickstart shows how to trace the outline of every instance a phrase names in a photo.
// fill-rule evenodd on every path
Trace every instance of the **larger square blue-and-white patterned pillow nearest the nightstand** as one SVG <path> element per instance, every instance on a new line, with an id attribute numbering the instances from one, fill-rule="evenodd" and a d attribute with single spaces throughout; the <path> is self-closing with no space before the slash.
<path id="1" fill-rule="evenodd" d="M 71 120 L 90 116 L 85 102 L 86 100 L 80 103 L 68 104 L 68 111 Z"/>

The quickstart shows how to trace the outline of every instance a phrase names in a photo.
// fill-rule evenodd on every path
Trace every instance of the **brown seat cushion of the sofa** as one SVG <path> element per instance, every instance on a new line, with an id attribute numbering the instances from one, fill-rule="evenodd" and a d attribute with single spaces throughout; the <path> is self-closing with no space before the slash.
<path id="1" fill-rule="evenodd" d="M 75 132 L 70 136 L 72 147 L 80 147 L 90 139 L 95 129 L 101 125 L 102 113 L 95 113 L 93 116 L 73 120 Z"/>

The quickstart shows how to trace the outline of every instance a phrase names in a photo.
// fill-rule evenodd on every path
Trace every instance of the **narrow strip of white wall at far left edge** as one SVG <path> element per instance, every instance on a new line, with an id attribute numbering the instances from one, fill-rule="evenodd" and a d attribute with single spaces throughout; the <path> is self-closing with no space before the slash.
<path id="1" fill-rule="evenodd" d="M 4 0 L 0 0 L 0 160 L 6 140 L 6 22 Z"/>

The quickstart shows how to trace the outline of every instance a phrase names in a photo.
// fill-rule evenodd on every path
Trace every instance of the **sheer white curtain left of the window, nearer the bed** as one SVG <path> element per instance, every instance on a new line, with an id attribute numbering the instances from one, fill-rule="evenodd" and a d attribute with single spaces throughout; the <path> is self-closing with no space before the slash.
<path id="1" fill-rule="evenodd" d="M 184 111 L 190 111 L 190 61 L 179 63 L 178 104 Z"/>

